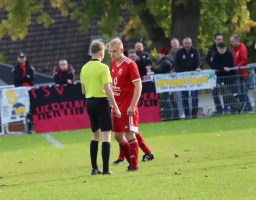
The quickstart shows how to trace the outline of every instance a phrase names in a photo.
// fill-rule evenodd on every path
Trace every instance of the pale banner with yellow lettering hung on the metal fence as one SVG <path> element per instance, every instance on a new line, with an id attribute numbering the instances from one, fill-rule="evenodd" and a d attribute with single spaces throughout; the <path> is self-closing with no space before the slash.
<path id="1" fill-rule="evenodd" d="M 154 75 L 157 93 L 169 91 L 189 91 L 216 87 L 215 70 L 187 71 L 171 75 Z"/>

